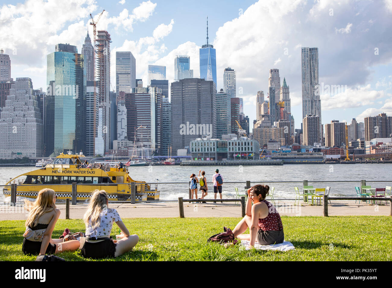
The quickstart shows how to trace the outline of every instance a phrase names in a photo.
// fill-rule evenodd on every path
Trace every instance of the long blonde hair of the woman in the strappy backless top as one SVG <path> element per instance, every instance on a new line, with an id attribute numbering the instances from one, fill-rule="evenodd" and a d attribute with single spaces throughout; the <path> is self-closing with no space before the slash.
<path id="1" fill-rule="evenodd" d="M 38 192 L 37 199 L 33 204 L 30 201 L 25 201 L 27 210 L 31 210 L 29 217 L 26 220 L 26 226 L 34 227 L 38 224 L 38 219 L 47 212 L 51 212 L 56 208 L 53 203 L 53 197 L 56 195 L 54 190 L 44 188 Z"/>

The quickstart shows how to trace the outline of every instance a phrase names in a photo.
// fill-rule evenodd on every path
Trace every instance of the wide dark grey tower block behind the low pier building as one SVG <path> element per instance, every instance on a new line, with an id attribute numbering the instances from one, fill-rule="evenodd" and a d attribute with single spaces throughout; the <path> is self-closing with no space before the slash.
<path id="1" fill-rule="evenodd" d="M 200 78 L 171 83 L 172 147 L 190 145 L 192 139 L 216 138 L 216 85 Z"/>

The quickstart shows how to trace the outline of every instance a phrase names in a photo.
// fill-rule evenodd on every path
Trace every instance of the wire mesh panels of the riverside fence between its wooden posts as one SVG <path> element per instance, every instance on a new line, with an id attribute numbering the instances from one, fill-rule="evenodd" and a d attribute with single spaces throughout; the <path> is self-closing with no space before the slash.
<path id="1" fill-rule="evenodd" d="M 305 182 L 306 183 L 306 182 Z M 372 188 L 386 188 L 392 186 L 391 181 L 365 181 L 366 185 Z M 267 184 L 270 187 L 270 194 L 273 192 L 273 197 L 276 200 L 294 200 L 296 193 L 294 187 L 298 187 L 299 193 L 303 192 L 303 181 L 250 181 L 250 186 L 256 184 Z M 330 187 L 330 197 L 356 197 L 355 187 L 361 188 L 363 183 L 358 181 L 307 181 L 308 186 L 314 188 Z M 197 197 L 201 198 L 200 184 L 198 183 Z M 238 194 L 245 195 L 247 186 L 246 182 L 224 182 L 222 186 L 222 197 L 226 199 L 238 198 Z M 214 187 L 212 182 L 207 182 L 208 195 L 206 198 L 214 197 Z M 24 199 L 34 201 L 38 192 L 43 188 L 52 188 L 56 191 L 57 201 L 65 201 L 66 198 L 72 198 L 72 184 L 59 185 L 17 185 L 16 186 L 16 202 L 23 202 Z M 178 201 L 178 197 L 184 199 L 189 198 L 189 182 L 175 182 L 175 183 L 145 183 L 136 182 L 136 202 L 144 201 Z M 91 192 L 94 190 L 105 190 L 109 196 L 109 201 L 131 201 L 131 183 L 119 184 L 77 184 L 76 194 L 78 201 L 88 201 Z M 11 185 L 0 186 L 0 204 L 10 201 Z M 217 195 L 218 196 L 218 195 Z M 196 198 L 196 195 L 193 196 Z M 218 196 L 219 198 L 219 196 Z M 270 197 L 267 197 L 269 199 Z"/>

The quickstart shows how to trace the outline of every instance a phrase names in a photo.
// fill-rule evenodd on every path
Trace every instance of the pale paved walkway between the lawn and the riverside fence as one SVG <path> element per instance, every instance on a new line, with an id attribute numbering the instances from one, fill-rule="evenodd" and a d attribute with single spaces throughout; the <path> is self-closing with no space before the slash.
<path id="1" fill-rule="evenodd" d="M 277 203 L 276 208 L 281 216 L 323 216 L 323 207 L 300 204 L 294 206 L 293 201 L 282 201 Z M 60 219 L 65 219 L 65 204 L 58 203 L 60 209 Z M 109 207 L 116 208 L 122 218 L 134 217 L 179 217 L 179 208 L 177 202 L 165 203 L 109 203 Z M 70 205 L 69 215 L 71 219 L 82 219 L 86 211 L 87 204 Z M 388 216 L 390 206 L 386 205 L 369 205 L 367 203 L 355 203 L 355 201 L 332 201 L 328 204 L 329 216 Z M 28 212 L 25 211 L 24 205 L 12 207 L 0 205 L 0 220 L 25 220 Z M 231 203 L 202 203 L 191 204 L 184 203 L 185 217 L 241 217 L 240 204 Z"/>

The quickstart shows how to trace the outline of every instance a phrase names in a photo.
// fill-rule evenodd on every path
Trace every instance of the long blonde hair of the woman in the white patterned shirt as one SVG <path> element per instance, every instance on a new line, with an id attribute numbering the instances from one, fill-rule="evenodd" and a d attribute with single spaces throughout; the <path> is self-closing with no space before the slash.
<path id="1" fill-rule="evenodd" d="M 84 214 L 83 221 L 86 224 L 86 227 L 89 225 L 89 220 L 91 220 L 91 226 L 93 229 L 99 226 L 101 219 L 101 212 L 107 209 L 107 200 L 109 197 L 106 194 L 105 190 L 94 190 L 91 198 L 90 204 L 87 207 L 87 211 Z"/>

